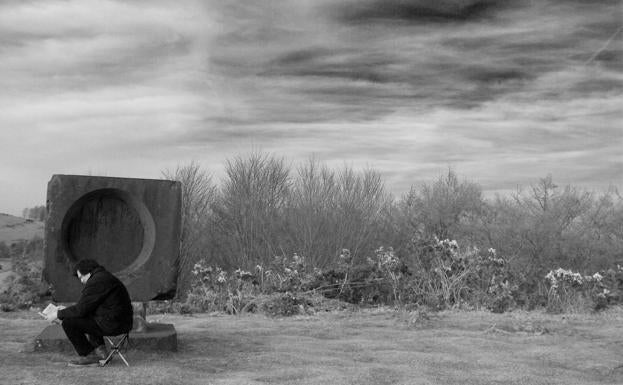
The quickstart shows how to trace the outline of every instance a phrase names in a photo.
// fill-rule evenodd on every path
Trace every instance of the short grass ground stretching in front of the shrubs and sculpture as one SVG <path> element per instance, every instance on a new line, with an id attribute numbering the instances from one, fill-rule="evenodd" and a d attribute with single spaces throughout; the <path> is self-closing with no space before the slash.
<path id="1" fill-rule="evenodd" d="M 2 384 L 621 384 L 623 310 L 596 315 L 513 312 L 156 315 L 175 324 L 179 352 L 128 351 L 105 368 L 33 353 L 34 312 L 0 313 Z"/>

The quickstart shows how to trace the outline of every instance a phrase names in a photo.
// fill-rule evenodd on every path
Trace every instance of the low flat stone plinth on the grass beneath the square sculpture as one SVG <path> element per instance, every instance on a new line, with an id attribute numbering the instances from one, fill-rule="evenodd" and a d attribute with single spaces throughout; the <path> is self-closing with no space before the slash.
<path id="1" fill-rule="evenodd" d="M 108 341 L 106 342 L 108 344 Z M 130 332 L 129 349 L 144 351 L 177 351 L 177 332 L 173 324 L 147 323 L 144 332 Z M 35 338 L 35 352 L 75 353 L 61 325 L 53 324 Z"/>

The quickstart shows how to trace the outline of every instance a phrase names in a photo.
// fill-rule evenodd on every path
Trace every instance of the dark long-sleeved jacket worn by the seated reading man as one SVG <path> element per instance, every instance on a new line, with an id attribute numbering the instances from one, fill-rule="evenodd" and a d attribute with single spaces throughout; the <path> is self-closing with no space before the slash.
<path id="1" fill-rule="evenodd" d="M 58 318 L 93 318 L 106 335 L 132 329 L 132 302 L 123 283 L 101 266 L 82 289 L 78 303 L 58 311 Z"/>

